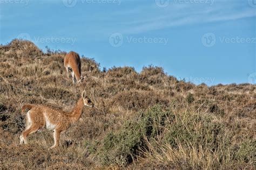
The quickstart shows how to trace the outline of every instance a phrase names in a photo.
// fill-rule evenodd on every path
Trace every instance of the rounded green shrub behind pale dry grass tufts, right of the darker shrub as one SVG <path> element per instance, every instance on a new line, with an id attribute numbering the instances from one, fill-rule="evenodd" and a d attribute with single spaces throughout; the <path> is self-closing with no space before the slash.
<path id="1" fill-rule="evenodd" d="M 225 141 L 230 144 L 226 137 L 225 128 L 220 123 L 215 123 L 207 116 L 176 115 L 176 121 L 167 128 L 165 143 L 176 148 L 178 145 L 191 143 L 193 146 L 203 146 L 203 149 L 217 151 L 220 144 Z"/>

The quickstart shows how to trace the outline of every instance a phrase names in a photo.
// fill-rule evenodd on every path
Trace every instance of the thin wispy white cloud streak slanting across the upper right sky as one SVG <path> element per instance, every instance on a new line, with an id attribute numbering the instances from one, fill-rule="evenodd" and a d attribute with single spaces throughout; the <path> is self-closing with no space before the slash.
<path id="1" fill-rule="evenodd" d="M 138 17 L 136 20 L 128 21 L 127 27 L 125 29 L 120 28 L 120 32 L 136 34 L 168 29 L 174 26 L 223 22 L 256 16 L 255 9 L 246 6 L 248 4 L 244 4 L 244 8 L 239 8 L 239 5 L 241 4 L 232 2 L 228 2 L 228 4 L 219 2 L 211 6 L 206 4 L 173 4 L 161 11 L 151 11 L 154 15 L 149 18 Z M 130 15 L 139 16 L 139 13 L 131 13 Z"/>

